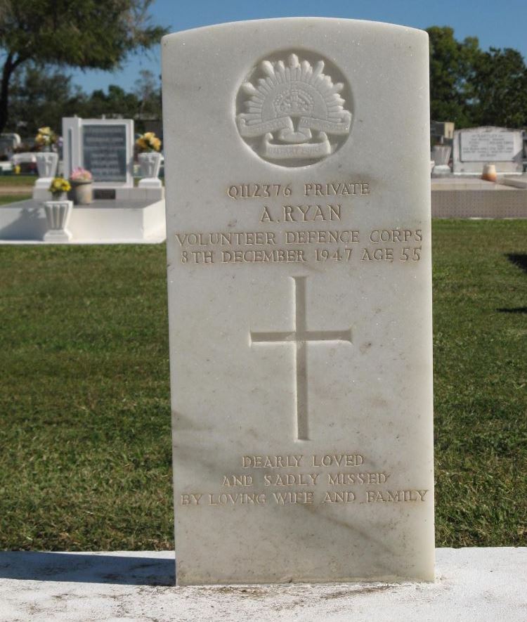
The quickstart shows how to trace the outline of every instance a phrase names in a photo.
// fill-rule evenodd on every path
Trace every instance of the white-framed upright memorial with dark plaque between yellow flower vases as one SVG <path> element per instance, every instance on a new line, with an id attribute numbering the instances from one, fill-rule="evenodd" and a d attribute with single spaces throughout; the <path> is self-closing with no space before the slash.
<path id="1" fill-rule="evenodd" d="M 134 186 L 132 119 L 63 119 L 64 175 L 77 167 L 93 174 L 94 188 Z"/>

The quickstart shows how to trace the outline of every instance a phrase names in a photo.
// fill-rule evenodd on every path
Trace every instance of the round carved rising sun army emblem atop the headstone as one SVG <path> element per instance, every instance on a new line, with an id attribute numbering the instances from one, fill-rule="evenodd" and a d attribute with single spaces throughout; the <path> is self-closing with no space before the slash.
<path id="1" fill-rule="evenodd" d="M 346 141 L 351 112 L 324 60 L 263 60 L 242 84 L 236 124 L 263 160 L 302 167 L 323 160 Z M 334 74 L 338 70 L 332 70 Z M 339 76 L 337 76 L 339 77 Z"/>

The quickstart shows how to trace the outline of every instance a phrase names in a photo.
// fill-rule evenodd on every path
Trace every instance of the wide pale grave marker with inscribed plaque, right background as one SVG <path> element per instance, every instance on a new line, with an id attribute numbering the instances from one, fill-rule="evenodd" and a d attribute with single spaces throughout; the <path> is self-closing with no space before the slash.
<path id="1" fill-rule="evenodd" d="M 453 172 L 479 174 L 485 164 L 498 173 L 523 171 L 523 132 L 502 127 L 475 127 L 454 132 Z"/>

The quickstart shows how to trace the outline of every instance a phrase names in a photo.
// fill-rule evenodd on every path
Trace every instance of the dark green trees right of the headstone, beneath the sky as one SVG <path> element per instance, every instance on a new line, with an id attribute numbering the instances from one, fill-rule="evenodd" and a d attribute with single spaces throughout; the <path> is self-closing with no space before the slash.
<path id="1" fill-rule="evenodd" d="M 456 41 L 447 26 L 427 32 L 432 119 L 458 128 L 527 127 L 527 67 L 518 51 L 482 51 L 476 37 Z"/>

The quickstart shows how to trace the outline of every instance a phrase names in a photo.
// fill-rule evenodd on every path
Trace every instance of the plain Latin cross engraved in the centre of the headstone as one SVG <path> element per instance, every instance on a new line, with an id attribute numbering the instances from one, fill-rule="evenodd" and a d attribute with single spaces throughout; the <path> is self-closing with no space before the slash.
<path id="1" fill-rule="evenodd" d="M 308 441 L 308 342 L 349 342 L 351 328 L 347 330 L 307 330 L 306 328 L 306 277 L 294 276 L 294 329 L 284 332 L 250 332 L 252 344 L 292 343 L 295 349 L 297 439 Z"/>

